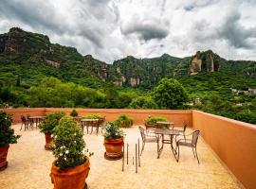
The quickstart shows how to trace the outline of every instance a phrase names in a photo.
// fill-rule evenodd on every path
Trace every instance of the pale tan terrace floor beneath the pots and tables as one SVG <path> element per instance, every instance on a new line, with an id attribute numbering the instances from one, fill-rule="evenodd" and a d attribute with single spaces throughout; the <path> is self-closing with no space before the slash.
<path id="1" fill-rule="evenodd" d="M 49 173 L 54 160 L 50 151 L 44 149 L 45 135 L 39 129 L 20 131 L 18 144 L 9 147 L 9 167 L 0 172 L 0 188 L 5 189 L 46 189 L 53 188 Z M 189 129 L 189 133 L 192 129 Z M 129 164 L 121 171 L 122 161 L 104 159 L 103 137 L 93 133 L 84 135 L 84 140 L 94 155 L 90 157 L 90 173 L 86 180 L 89 189 L 94 188 L 239 188 L 228 170 L 218 161 L 202 138 L 198 141 L 200 164 L 193 158 L 192 149 L 181 148 L 180 162 L 176 163 L 170 146 L 164 146 L 160 159 L 156 159 L 156 144 L 146 144 L 141 156 L 141 167 L 135 173 L 132 161 L 135 144 L 139 137 L 137 127 L 125 129 L 125 143 L 129 143 Z"/>

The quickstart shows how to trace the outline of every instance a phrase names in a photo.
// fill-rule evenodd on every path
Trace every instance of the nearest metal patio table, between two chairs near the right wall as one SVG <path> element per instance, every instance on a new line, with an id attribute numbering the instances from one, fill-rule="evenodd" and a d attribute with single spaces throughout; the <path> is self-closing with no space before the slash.
<path id="1" fill-rule="evenodd" d="M 176 159 L 176 150 L 173 146 L 174 136 L 179 135 L 179 131 L 175 129 L 155 129 L 155 135 L 157 140 L 157 159 L 160 158 L 164 144 L 170 144 L 174 158 Z M 164 136 L 169 136 L 170 139 L 164 139 Z M 161 142 L 161 146 L 160 146 Z"/>

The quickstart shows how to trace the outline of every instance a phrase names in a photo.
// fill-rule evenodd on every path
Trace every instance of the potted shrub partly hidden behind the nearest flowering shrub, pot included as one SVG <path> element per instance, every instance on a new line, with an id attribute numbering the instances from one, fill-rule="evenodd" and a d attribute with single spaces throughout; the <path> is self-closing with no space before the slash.
<path id="1" fill-rule="evenodd" d="M 39 129 L 41 132 L 44 132 L 46 135 L 46 145 L 45 149 L 51 149 L 51 141 L 52 141 L 52 130 L 59 124 L 60 119 L 64 116 L 64 112 L 48 112 L 46 114 L 46 118 L 42 120 L 39 124 Z"/>

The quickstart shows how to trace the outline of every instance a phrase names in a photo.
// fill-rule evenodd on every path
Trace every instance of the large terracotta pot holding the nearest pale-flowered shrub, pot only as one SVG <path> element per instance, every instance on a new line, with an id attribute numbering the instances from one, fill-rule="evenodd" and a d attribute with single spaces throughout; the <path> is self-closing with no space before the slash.
<path id="1" fill-rule="evenodd" d="M 85 179 L 87 178 L 90 170 L 89 158 L 85 156 L 85 163 L 79 166 L 60 169 L 52 163 L 50 178 L 54 184 L 54 189 L 83 189 L 87 188 Z"/>

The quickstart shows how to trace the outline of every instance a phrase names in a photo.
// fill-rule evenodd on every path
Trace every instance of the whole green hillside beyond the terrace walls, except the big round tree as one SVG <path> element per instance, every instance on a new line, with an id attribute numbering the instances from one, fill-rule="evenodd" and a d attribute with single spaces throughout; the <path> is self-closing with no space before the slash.
<path id="1" fill-rule="evenodd" d="M 152 92 L 163 77 L 188 92 L 183 109 L 256 123 L 255 61 L 225 60 L 208 50 L 107 64 L 18 27 L 0 34 L 1 107 L 161 109 Z"/>

